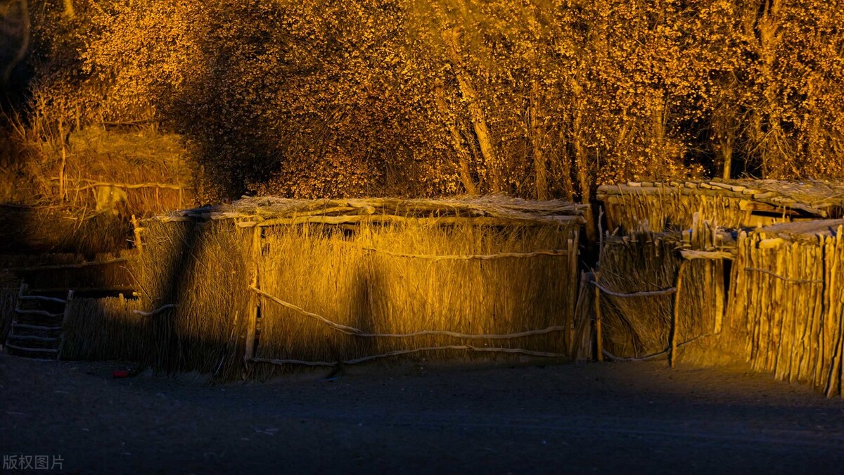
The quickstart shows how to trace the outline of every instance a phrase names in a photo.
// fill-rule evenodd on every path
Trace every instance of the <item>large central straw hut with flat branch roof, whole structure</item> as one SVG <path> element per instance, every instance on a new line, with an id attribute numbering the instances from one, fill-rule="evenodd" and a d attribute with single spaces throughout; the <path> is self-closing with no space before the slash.
<path id="1" fill-rule="evenodd" d="M 586 211 L 504 197 L 179 211 L 138 229 L 140 297 L 122 314 L 138 358 L 224 379 L 403 354 L 563 357 Z"/>

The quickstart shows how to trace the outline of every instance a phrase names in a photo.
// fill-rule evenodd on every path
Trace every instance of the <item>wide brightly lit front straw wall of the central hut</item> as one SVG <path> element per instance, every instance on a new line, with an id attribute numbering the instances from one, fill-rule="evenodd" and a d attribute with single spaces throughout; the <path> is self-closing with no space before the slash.
<path id="1" fill-rule="evenodd" d="M 463 349 L 425 358 L 473 352 L 467 347 L 565 353 L 576 235 L 563 225 L 266 227 L 260 287 L 299 309 L 262 298 L 256 357 L 333 363 L 430 347 Z M 532 330 L 541 331 L 436 333 Z M 427 333 L 406 336 L 419 331 Z"/>

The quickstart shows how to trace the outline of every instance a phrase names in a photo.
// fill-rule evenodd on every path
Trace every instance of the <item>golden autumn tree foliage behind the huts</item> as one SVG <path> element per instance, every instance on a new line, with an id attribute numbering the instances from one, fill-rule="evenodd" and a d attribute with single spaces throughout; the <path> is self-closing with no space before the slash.
<path id="1" fill-rule="evenodd" d="M 77 0 L 30 109 L 154 120 L 206 194 L 844 177 L 842 0 Z"/>

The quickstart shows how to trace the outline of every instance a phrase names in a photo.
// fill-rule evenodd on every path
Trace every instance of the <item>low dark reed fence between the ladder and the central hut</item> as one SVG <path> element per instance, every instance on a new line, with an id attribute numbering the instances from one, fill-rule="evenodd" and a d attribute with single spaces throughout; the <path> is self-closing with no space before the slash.
<path id="1" fill-rule="evenodd" d="M 68 303 L 62 353 L 71 360 L 140 361 L 149 352 L 149 319 L 143 304 L 122 298 L 75 298 Z"/>

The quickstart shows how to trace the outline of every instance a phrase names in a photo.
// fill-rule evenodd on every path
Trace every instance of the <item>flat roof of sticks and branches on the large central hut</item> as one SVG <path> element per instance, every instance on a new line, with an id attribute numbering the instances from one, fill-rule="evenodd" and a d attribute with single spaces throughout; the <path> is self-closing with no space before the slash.
<path id="1" fill-rule="evenodd" d="M 240 227 L 305 222 L 344 224 L 361 221 L 580 225 L 585 222 L 583 216 L 588 209 L 588 205 L 576 205 L 560 199 L 533 201 L 502 195 L 449 199 L 243 197 L 231 204 L 173 211 L 155 219 L 165 222 L 233 220 Z"/>

